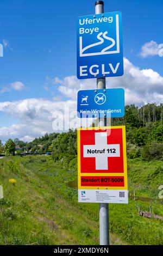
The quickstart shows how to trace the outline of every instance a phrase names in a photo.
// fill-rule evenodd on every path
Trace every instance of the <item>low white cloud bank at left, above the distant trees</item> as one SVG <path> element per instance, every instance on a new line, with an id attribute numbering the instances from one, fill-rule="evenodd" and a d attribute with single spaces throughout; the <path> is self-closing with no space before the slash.
<path id="1" fill-rule="evenodd" d="M 46 132 L 54 132 L 52 124 L 57 112 L 64 114 L 65 108 L 70 112 L 76 109 L 76 101 L 49 101 L 43 99 L 26 99 L 13 102 L 0 102 L 0 111 L 19 120 L 18 124 L 0 127 L 0 138 L 20 138 L 24 141 Z M 68 119 L 67 119 L 68 122 Z M 66 124 L 68 125 L 68 123 Z M 67 128 L 68 130 L 68 128 Z"/>

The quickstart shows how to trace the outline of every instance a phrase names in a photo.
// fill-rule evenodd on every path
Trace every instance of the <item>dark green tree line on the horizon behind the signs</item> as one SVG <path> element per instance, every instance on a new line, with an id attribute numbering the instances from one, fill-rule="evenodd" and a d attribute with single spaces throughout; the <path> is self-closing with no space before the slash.
<path id="1" fill-rule="evenodd" d="M 129 158 L 141 157 L 144 160 L 163 159 L 163 104 L 147 104 L 142 107 L 126 106 L 124 118 L 112 118 L 111 125 L 126 125 L 127 154 Z M 96 121 L 93 126 L 96 126 Z M 16 143 L 15 143 L 16 142 Z M 15 150 L 17 148 L 17 150 Z M 45 154 L 52 152 L 54 160 L 63 157 L 73 159 L 77 156 L 77 131 L 50 133 L 35 138 L 32 142 L 9 139 L 5 145 L 0 141 L 0 153 L 7 155 L 15 152 Z"/>

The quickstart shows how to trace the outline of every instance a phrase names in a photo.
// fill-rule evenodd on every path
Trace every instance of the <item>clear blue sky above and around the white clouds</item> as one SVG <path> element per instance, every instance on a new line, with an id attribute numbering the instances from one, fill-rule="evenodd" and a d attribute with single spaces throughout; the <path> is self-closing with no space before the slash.
<path id="1" fill-rule="evenodd" d="M 162 78 L 163 57 L 155 54 L 142 58 L 140 52 L 152 40 L 163 44 L 163 2 L 106 0 L 104 4 L 105 12 L 122 11 L 124 57 L 134 67 L 152 69 Z M 0 58 L 0 101 L 42 98 L 51 102 L 56 97 L 57 101 L 70 100 L 70 95 L 58 87 L 66 87 L 65 77 L 76 76 L 76 17 L 93 14 L 95 1 L 62 0 L 58 4 L 55 0 L 1 0 L 0 9 L 0 43 L 4 44 L 4 57 Z M 54 80 L 56 77 L 59 82 Z M 15 82 L 22 83 L 20 89 L 14 89 Z M 67 88 L 72 89 L 70 84 Z M 4 126 L 24 124 L 23 113 L 20 117 L 18 111 L 12 113 L 4 106 L 0 110 L 3 131 Z M 0 132 L 4 140 L 3 135 Z M 16 135 L 11 134 L 10 127 L 6 136 Z"/>

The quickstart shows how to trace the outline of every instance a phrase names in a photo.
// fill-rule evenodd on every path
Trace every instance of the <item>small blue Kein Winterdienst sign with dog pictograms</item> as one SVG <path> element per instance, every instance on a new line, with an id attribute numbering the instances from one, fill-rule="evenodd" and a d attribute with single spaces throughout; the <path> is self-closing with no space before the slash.
<path id="1" fill-rule="evenodd" d="M 124 89 L 79 90 L 78 117 L 124 117 Z"/>

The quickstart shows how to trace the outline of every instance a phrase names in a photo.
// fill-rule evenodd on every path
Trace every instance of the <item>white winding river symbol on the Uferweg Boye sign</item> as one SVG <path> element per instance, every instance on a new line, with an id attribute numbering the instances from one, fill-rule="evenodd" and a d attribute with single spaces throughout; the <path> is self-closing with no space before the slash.
<path id="1" fill-rule="evenodd" d="M 87 49 L 92 48 L 92 47 L 95 47 L 95 46 L 97 46 L 97 45 L 103 44 L 104 39 L 109 40 L 109 41 L 111 41 L 112 43 L 111 43 L 111 45 L 105 47 L 101 52 L 106 52 L 106 51 L 108 51 L 110 48 L 114 47 L 114 46 L 115 46 L 115 40 L 112 39 L 112 38 L 110 38 L 109 36 L 106 36 L 106 34 L 108 34 L 108 31 L 105 31 L 104 33 L 103 33 L 103 32 L 100 32 L 100 33 L 97 35 L 97 39 L 99 40 L 99 42 L 95 42 L 95 44 L 87 45 L 86 47 L 84 47 L 84 48 L 82 49 L 82 51 L 81 51 L 80 53 L 83 54 Z M 103 39 L 101 36 L 103 36 L 104 39 Z"/>

